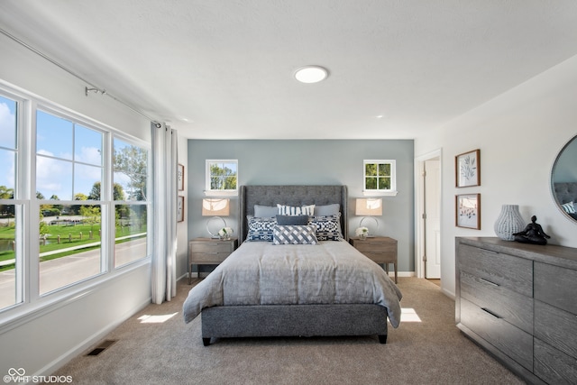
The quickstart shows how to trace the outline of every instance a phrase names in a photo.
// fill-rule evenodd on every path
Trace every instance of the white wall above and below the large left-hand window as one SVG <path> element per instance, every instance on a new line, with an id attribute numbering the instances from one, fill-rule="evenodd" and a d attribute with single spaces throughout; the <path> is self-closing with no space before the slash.
<path id="1" fill-rule="evenodd" d="M 150 122 L 114 99 L 85 96 L 84 82 L 2 34 L 0 51 L 0 80 L 151 141 Z M 47 304 L 33 315 L 7 321 L 8 312 L 0 313 L 0 373 L 23 368 L 31 376 L 50 374 L 149 304 L 150 261 L 137 263 L 124 273 L 116 271 L 105 280 L 88 280 L 77 288 L 81 291 L 59 295 L 57 304 Z"/>

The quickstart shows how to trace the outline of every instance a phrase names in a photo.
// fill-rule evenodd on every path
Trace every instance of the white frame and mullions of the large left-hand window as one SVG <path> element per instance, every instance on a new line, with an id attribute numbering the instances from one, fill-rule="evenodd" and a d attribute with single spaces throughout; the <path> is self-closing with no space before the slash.
<path id="1" fill-rule="evenodd" d="M 103 175 L 102 186 L 112 186 L 112 136 L 122 139 L 124 142 L 132 142 L 149 151 L 148 183 L 150 191 L 151 183 L 151 143 L 134 138 L 132 135 L 122 133 L 114 127 L 97 122 L 85 115 L 80 115 L 73 110 L 57 105 L 50 100 L 35 96 L 21 88 L 14 87 L 0 80 L 0 93 L 3 96 L 16 100 L 18 102 L 18 147 L 17 147 L 17 175 L 15 196 L 13 200 L 5 200 L 5 203 L 15 205 L 20 211 L 20 219 L 17 224 L 20 229 L 17 234 L 17 243 L 21 252 L 16 253 L 20 269 L 16 270 L 16 292 L 17 298 L 13 306 L 0 308 L 0 334 L 4 333 L 19 325 L 22 319 L 32 319 L 50 313 L 53 306 L 70 298 L 77 298 L 82 293 L 86 293 L 96 286 L 105 284 L 118 274 L 129 273 L 132 270 L 140 268 L 142 265 L 151 263 L 151 221 L 152 215 L 148 215 L 148 235 L 147 235 L 147 255 L 141 259 L 132 261 L 114 268 L 114 204 L 112 193 L 101 197 L 100 201 L 91 201 L 91 204 L 103 205 L 102 221 L 106 222 L 107 231 L 103 234 L 102 252 L 105 254 L 101 257 L 102 270 L 100 274 L 89 277 L 85 280 L 78 280 L 60 289 L 39 295 L 39 229 L 37 213 L 40 209 L 41 201 L 36 199 L 36 111 L 41 109 L 50 114 L 59 115 L 72 119 L 74 122 L 86 126 L 87 128 L 96 129 L 105 134 L 105 143 L 103 143 L 103 156 L 105 172 Z M 78 204 L 78 201 L 61 201 L 62 204 Z M 133 202 L 131 202 L 133 204 Z M 151 210 L 151 199 L 138 204 L 147 205 L 149 213 Z M 103 229 L 104 230 L 104 229 Z M 106 237 L 106 239 L 105 239 Z M 34 240 L 35 242 L 32 242 Z"/>

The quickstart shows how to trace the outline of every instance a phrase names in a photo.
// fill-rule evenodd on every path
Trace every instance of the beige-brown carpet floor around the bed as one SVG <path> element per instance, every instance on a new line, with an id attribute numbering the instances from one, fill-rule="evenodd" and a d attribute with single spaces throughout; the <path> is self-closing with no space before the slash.
<path id="1" fill-rule="evenodd" d="M 522 384 L 454 325 L 454 301 L 427 280 L 399 278 L 404 313 L 387 344 L 376 336 L 231 338 L 203 346 L 200 319 L 179 295 L 117 327 L 53 373 L 75 384 Z"/>

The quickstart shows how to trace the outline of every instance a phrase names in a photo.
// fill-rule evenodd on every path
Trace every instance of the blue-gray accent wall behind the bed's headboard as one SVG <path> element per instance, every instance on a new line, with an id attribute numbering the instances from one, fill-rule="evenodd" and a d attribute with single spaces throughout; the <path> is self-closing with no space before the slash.
<path id="1" fill-rule="evenodd" d="M 349 192 L 349 230 L 361 217 L 354 215 L 354 198 L 362 197 L 362 161 L 396 160 L 396 197 L 383 198 L 378 235 L 398 240 L 398 270 L 414 271 L 414 151 L 412 140 L 188 140 L 188 239 L 207 236 L 201 215 L 205 196 L 206 160 L 238 160 L 240 185 L 346 185 Z M 238 230 L 238 197 L 231 198 L 227 225 Z"/>

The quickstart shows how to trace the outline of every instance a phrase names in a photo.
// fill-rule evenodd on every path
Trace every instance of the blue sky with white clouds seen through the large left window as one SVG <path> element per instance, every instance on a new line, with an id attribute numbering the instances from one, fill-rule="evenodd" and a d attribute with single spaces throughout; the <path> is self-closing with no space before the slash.
<path id="1" fill-rule="evenodd" d="M 16 103 L 0 96 L 0 186 L 15 186 Z M 46 199 L 73 200 L 78 193 L 89 195 L 102 181 L 103 133 L 41 110 L 36 115 L 36 191 Z M 129 144 L 114 139 L 120 150 Z M 127 190 L 128 178 L 114 173 L 114 182 Z"/>

